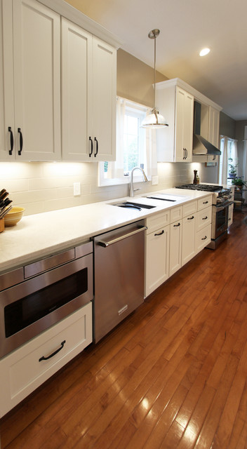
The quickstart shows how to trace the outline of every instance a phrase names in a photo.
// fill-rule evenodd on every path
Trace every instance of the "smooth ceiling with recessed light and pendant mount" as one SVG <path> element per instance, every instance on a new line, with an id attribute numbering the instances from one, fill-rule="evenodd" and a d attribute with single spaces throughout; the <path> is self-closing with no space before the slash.
<path id="1" fill-rule="evenodd" d="M 67 0 L 123 41 L 123 50 L 180 78 L 235 120 L 247 119 L 246 0 Z M 203 47 L 211 53 L 201 58 Z"/>

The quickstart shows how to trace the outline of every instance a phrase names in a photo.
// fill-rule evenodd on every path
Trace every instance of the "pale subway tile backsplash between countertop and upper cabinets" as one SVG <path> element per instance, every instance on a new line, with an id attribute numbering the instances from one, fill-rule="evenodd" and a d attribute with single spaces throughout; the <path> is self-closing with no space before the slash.
<path id="1" fill-rule="evenodd" d="M 137 183 L 138 194 L 192 182 L 193 168 L 200 170 L 200 164 L 158 163 L 159 185 Z M 79 196 L 74 196 L 74 182 L 81 183 Z M 98 187 L 96 162 L 3 162 L 0 187 L 10 192 L 15 206 L 25 208 L 25 215 L 121 198 L 129 192 L 127 184 Z"/>

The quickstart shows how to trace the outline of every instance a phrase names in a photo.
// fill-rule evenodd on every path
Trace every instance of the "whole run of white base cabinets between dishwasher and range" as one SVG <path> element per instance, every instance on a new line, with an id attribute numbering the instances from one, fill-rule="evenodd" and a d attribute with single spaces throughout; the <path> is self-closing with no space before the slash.
<path id="1" fill-rule="evenodd" d="M 145 296 L 211 242 L 212 196 L 146 220 Z"/>

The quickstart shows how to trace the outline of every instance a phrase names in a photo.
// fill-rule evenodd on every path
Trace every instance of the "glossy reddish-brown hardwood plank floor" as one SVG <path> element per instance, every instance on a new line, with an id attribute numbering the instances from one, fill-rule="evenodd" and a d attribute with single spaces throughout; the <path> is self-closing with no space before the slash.
<path id="1" fill-rule="evenodd" d="M 247 448 L 247 225 L 2 418 L 1 448 Z"/>

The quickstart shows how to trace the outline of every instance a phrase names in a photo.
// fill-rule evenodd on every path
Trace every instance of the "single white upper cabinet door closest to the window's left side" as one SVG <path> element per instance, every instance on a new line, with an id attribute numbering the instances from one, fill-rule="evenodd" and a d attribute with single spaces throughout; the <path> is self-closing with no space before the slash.
<path id="1" fill-rule="evenodd" d="M 116 50 L 93 36 L 93 91 L 89 105 L 95 161 L 116 159 Z"/>

